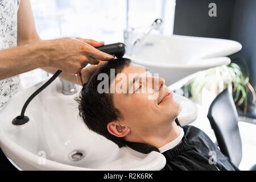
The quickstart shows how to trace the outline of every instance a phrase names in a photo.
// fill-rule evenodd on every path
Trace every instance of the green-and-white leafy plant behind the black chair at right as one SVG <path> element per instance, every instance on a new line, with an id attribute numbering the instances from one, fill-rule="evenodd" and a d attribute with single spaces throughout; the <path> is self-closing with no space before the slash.
<path id="1" fill-rule="evenodd" d="M 232 62 L 229 65 L 211 68 L 200 76 L 193 78 L 184 86 L 184 96 L 202 103 L 205 93 L 211 93 L 214 98 L 222 90 L 228 88 L 232 93 L 237 109 L 247 112 L 249 94 L 252 96 L 251 104 L 255 104 L 255 92 L 249 82 L 249 69 L 246 61 L 238 54 L 229 56 Z M 243 63 L 243 66 L 238 63 Z M 210 99 L 210 102 L 213 99 Z"/>

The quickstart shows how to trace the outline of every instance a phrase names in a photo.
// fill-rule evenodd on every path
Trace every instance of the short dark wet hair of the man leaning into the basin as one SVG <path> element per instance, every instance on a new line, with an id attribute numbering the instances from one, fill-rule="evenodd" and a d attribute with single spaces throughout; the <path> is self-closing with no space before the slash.
<path id="1" fill-rule="evenodd" d="M 123 117 L 120 111 L 114 106 L 112 93 L 98 92 L 98 84 L 102 82 L 102 80 L 98 80 L 98 75 L 100 73 L 106 73 L 109 78 L 110 87 L 110 80 L 114 80 L 113 78 L 110 79 L 110 69 L 115 69 L 115 76 L 117 76 L 130 63 L 131 60 L 127 58 L 108 61 L 83 85 L 80 96 L 76 98 L 76 101 L 79 102 L 79 115 L 84 120 L 85 125 L 90 130 L 112 140 L 118 147 L 126 146 L 126 141 L 124 138 L 115 137 L 110 134 L 107 125 L 109 122 L 123 119 Z"/>

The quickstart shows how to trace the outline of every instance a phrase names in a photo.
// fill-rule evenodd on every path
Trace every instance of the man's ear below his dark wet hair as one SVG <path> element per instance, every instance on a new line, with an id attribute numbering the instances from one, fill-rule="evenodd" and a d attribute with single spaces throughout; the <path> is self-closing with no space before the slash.
<path id="1" fill-rule="evenodd" d="M 107 128 L 109 133 L 114 135 L 115 137 L 125 137 L 127 134 L 130 133 L 129 127 L 123 126 L 115 121 L 109 122 Z"/>

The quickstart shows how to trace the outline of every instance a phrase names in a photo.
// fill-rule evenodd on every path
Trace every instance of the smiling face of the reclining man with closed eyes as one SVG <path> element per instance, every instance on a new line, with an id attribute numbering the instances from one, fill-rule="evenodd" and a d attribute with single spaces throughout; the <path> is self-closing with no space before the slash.
<path id="1" fill-rule="evenodd" d="M 113 93 L 113 102 L 123 115 L 123 120 L 119 122 L 130 128 L 130 134 L 145 136 L 158 130 L 160 132 L 179 115 L 180 105 L 173 100 L 163 78 L 153 77 L 144 67 L 133 63 L 122 73 L 127 78 L 127 92 Z M 138 76 L 129 79 L 131 74 Z M 121 81 L 115 77 L 112 86 Z"/>

